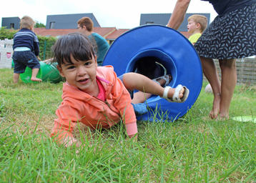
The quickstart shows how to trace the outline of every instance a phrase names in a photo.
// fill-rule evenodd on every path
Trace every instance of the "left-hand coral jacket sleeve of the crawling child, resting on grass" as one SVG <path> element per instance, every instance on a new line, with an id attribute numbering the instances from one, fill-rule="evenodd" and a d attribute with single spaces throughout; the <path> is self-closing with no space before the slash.
<path id="1" fill-rule="evenodd" d="M 54 127 L 51 132 L 51 137 L 56 139 L 58 142 L 61 139 L 73 138 L 72 131 L 80 122 L 81 112 L 75 105 L 74 102 L 63 101 L 56 110 L 57 119 L 54 119 Z"/>

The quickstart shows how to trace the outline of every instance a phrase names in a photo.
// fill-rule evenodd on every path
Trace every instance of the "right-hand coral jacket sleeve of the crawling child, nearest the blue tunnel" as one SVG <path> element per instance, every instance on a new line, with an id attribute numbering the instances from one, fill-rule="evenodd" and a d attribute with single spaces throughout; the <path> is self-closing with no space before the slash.
<path id="1" fill-rule="evenodd" d="M 114 73 L 112 94 L 114 98 L 114 107 L 119 109 L 124 124 L 136 123 L 137 119 L 132 107 L 132 99 L 129 91 L 125 88 L 122 81 L 117 78 L 117 74 Z"/>

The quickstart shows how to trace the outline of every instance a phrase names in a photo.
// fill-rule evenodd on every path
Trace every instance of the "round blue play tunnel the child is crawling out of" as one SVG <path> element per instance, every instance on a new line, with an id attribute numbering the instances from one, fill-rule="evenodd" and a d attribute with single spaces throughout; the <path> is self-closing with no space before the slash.
<path id="1" fill-rule="evenodd" d="M 202 88 L 202 65 L 194 46 L 174 29 L 161 25 L 139 26 L 119 36 L 109 47 L 103 66 L 112 65 L 117 76 L 134 71 L 138 59 L 155 56 L 172 74 L 169 86 L 187 86 L 189 97 L 184 103 L 167 102 L 161 97 L 147 99 L 149 112 L 139 119 L 174 121 L 188 112 Z"/>

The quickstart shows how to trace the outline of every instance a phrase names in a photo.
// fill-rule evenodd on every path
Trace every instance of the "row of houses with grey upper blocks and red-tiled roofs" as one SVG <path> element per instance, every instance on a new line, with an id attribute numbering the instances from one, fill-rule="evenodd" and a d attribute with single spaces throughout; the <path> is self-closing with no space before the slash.
<path id="1" fill-rule="evenodd" d="M 169 21 L 169 17 L 172 14 L 141 14 L 139 26 L 145 24 L 160 24 L 165 26 Z M 187 18 L 192 14 L 186 14 L 182 25 L 178 31 L 185 37 L 189 37 L 191 34 L 187 32 Z M 210 19 L 210 14 L 202 14 Z M 128 31 L 129 29 L 117 29 L 115 27 L 102 27 L 95 18 L 94 14 L 58 14 L 47 15 L 46 28 L 35 28 L 34 32 L 41 36 L 61 36 L 77 31 L 77 21 L 82 17 L 87 16 L 94 22 L 94 32 L 103 36 L 109 44 L 117 39 L 118 36 Z M 19 17 L 2 18 L 2 26 L 6 26 L 7 29 L 19 29 Z M 208 21 L 209 24 L 209 21 Z"/>

